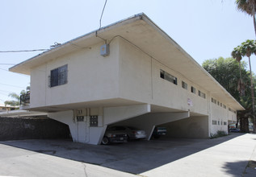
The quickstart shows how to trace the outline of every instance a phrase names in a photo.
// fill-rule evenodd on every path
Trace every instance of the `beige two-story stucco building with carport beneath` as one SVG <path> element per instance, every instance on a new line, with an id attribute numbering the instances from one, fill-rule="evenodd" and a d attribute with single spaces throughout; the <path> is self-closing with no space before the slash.
<path id="1" fill-rule="evenodd" d="M 207 138 L 228 131 L 241 105 L 145 14 L 72 39 L 15 65 L 31 76 L 30 104 L 64 122 L 75 142 L 99 144 L 107 126 Z"/>

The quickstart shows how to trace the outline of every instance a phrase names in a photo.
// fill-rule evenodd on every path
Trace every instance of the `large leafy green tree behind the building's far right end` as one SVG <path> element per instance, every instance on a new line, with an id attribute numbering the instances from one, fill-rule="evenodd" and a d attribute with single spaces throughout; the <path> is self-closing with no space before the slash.
<path id="1" fill-rule="evenodd" d="M 241 64 L 241 77 L 240 67 Z M 250 94 L 250 72 L 246 71 L 246 62 L 233 58 L 205 60 L 203 67 L 208 71 L 246 110 L 237 111 L 237 118 L 240 121 L 241 130 L 248 132 L 248 118 L 252 117 L 252 97 Z M 241 96 L 238 92 L 239 80 L 244 80 L 245 95 Z M 254 85 L 256 83 L 253 77 Z"/>

